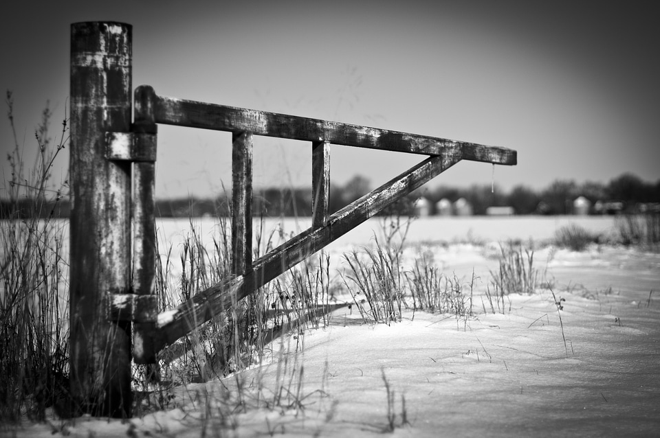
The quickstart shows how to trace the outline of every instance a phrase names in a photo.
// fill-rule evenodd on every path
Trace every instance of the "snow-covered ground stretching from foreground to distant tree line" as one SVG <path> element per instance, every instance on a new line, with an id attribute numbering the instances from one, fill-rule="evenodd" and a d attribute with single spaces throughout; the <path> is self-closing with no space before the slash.
<path id="1" fill-rule="evenodd" d="M 503 313 L 485 301 L 490 270 L 498 266 L 497 242 L 540 242 L 575 220 L 613 232 L 611 218 L 417 220 L 405 260 L 426 253 L 445 274 L 466 282 L 474 270 L 474 317 L 409 310 L 401 323 L 368 325 L 342 308 L 325 329 L 276 341 L 261 367 L 178 387 L 166 411 L 124 422 L 24 424 L 10 434 L 660 436 L 660 254 L 543 246 L 534 264 L 565 300 L 562 310 L 547 288 L 511 295 Z M 283 224 L 285 232 L 295 231 L 295 222 Z M 297 222 L 300 229 L 309 226 Z M 217 232 L 210 221 L 198 225 L 205 239 Z M 159 238 L 172 242 L 174 260 L 187 228 L 187 220 L 159 222 Z M 342 269 L 342 251 L 369 245 L 379 233 L 379 222 L 370 220 L 329 246 L 333 270 Z M 247 407 L 227 415 L 219 406 L 237 393 Z M 278 406 L 249 408 L 257 396 L 264 406 L 278 395 Z"/>

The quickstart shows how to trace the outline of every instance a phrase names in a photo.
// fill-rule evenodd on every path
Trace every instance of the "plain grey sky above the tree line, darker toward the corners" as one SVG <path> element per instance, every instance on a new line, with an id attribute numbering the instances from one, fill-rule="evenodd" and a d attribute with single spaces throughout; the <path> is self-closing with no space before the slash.
<path id="1" fill-rule="evenodd" d="M 14 92 L 26 156 L 45 102 L 53 132 L 68 113 L 71 23 L 121 21 L 133 25 L 133 86 L 161 95 L 512 148 L 518 165 L 494 172 L 504 189 L 660 179 L 652 2 L 41 3 L 3 5 L 0 30 L 0 87 Z M 0 133 L 8 178 L 5 118 Z M 161 126 L 157 196 L 229 190 L 230 139 Z M 331 182 L 363 174 L 376 187 L 420 159 L 334 146 Z M 257 137 L 255 185 L 311 185 L 310 168 L 309 143 Z M 491 178 L 491 165 L 462 162 L 429 185 Z"/>

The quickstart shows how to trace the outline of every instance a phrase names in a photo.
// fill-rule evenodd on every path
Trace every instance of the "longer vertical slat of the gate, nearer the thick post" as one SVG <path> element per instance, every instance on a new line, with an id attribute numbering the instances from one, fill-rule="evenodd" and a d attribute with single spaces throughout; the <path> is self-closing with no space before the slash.
<path id="1" fill-rule="evenodd" d="M 232 273 L 252 270 L 252 134 L 232 135 Z"/>

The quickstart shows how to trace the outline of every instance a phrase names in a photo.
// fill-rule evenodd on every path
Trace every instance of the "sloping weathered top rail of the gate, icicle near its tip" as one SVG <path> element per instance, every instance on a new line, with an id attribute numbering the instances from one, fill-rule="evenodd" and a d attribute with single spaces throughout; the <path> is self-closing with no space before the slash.
<path id="1" fill-rule="evenodd" d="M 230 132 L 252 132 L 254 135 L 267 137 L 327 141 L 342 146 L 430 156 L 442 155 L 443 157 L 493 164 L 516 165 L 517 163 L 515 150 L 497 146 L 163 97 L 156 95 L 148 85 L 138 87 L 135 95 L 147 101 L 135 102 L 136 106 L 148 108 L 148 111 L 153 114 L 153 122 L 159 124 Z"/>

